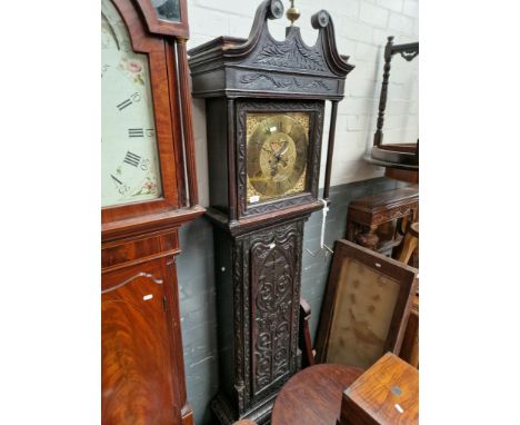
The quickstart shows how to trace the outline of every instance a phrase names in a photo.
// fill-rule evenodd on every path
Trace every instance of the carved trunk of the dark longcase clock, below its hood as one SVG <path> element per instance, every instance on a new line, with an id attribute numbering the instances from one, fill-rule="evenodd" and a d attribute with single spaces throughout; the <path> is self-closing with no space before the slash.
<path id="1" fill-rule="evenodd" d="M 300 218 L 231 239 L 217 234 L 219 249 L 227 250 L 228 245 L 232 251 L 229 278 L 222 273 L 217 276 L 222 291 L 228 291 L 222 286 L 232 287 L 233 326 L 229 332 L 234 346 L 233 362 L 228 366 L 234 376 L 221 376 L 234 382 L 233 389 L 220 394 L 212 404 L 221 423 L 231 424 L 238 417 L 264 423 L 278 389 L 299 368 L 303 221 Z M 230 397 L 228 393 L 233 394 Z M 233 397 L 236 402 L 229 399 Z"/>

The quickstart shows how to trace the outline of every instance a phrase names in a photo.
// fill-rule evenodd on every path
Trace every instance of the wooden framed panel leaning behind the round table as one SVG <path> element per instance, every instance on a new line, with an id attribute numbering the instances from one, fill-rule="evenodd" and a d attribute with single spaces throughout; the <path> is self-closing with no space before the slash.
<path id="1" fill-rule="evenodd" d="M 359 245 L 336 243 L 316 344 L 317 363 L 369 368 L 399 354 L 417 269 Z"/>

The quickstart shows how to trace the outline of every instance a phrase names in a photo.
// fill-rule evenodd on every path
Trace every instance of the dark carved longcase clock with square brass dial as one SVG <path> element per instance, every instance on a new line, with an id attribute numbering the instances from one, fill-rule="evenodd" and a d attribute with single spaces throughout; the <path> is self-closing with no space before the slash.
<path id="1" fill-rule="evenodd" d="M 266 0 L 247 40 L 220 37 L 189 51 L 193 96 L 206 98 L 220 353 L 212 408 L 223 424 L 269 422 L 299 368 L 303 224 L 323 206 L 324 103 L 332 101 L 327 198 L 337 105 L 353 69 L 327 11 L 312 17 L 312 47 L 293 24 L 283 41 L 271 37 L 268 19 L 282 16 L 280 0 Z M 292 21 L 298 16 L 289 9 Z"/>

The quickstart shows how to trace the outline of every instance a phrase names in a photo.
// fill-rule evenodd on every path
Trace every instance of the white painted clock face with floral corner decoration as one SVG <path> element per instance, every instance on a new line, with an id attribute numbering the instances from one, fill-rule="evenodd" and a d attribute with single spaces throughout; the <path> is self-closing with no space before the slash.
<path id="1" fill-rule="evenodd" d="M 148 56 L 101 0 L 101 206 L 161 197 Z"/>

